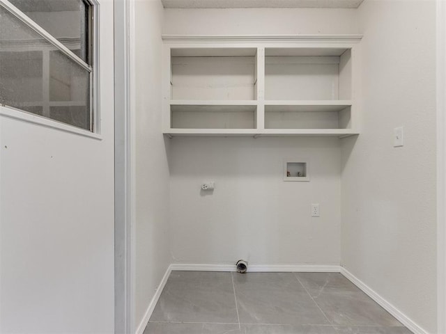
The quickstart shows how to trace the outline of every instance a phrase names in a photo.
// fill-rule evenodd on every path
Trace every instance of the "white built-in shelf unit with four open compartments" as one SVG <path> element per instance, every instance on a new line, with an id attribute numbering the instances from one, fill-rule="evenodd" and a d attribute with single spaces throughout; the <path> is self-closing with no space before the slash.
<path id="1" fill-rule="evenodd" d="M 359 133 L 360 36 L 177 37 L 164 38 L 164 134 Z"/>

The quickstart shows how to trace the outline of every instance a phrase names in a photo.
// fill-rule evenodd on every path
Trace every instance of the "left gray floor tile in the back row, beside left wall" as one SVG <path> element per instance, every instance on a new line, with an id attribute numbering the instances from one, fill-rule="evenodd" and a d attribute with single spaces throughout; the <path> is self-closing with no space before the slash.
<path id="1" fill-rule="evenodd" d="M 174 271 L 150 321 L 238 323 L 231 273 Z"/>

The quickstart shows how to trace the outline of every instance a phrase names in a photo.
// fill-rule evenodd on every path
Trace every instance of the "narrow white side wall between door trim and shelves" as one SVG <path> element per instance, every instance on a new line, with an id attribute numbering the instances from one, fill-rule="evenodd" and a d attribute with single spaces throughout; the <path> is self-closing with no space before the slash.
<path id="1" fill-rule="evenodd" d="M 134 326 L 139 326 L 169 254 L 169 168 L 161 133 L 161 24 L 159 0 L 134 1 Z"/>

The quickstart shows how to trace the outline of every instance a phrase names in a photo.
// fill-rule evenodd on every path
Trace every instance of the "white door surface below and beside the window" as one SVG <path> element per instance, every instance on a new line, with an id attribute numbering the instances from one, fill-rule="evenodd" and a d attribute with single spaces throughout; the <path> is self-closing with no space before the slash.
<path id="1" fill-rule="evenodd" d="M 0 115 L 0 332 L 114 331 L 113 4 L 102 140 Z"/>

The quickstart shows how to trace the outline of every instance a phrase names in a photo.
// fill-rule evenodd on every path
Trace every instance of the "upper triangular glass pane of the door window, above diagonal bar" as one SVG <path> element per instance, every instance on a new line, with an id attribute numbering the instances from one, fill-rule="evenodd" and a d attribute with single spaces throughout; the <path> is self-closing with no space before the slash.
<path id="1" fill-rule="evenodd" d="M 9 0 L 39 26 L 89 63 L 88 10 L 83 0 Z M 91 65 L 91 64 L 90 64 Z"/>

